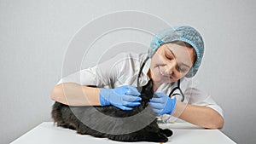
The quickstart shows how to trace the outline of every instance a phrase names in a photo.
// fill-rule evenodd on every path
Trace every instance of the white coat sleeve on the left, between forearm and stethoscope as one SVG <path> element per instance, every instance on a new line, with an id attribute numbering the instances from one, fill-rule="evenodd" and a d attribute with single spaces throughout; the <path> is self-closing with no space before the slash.
<path id="1" fill-rule="evenodd" d="M 95 85 L 97 87 L 111 87 L 124 65 L 125 54 L 116 55 L 110 60 L 104 61 L 93 67 L 74 72 L 65 78 L 61 78 L 58 84 L 72 82 L 81 85 Z"/>

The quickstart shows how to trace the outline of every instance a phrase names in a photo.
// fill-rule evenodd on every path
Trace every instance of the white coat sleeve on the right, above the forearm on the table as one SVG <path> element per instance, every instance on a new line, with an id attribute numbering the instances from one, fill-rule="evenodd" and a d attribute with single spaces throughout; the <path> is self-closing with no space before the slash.
<path id="1" fill-rule="evenodd" d="M 190 85 L 190 84 L 189 84 Z M 211 95 L 199 89 L 198 84 L 187 87 L 184 91 L 185 95 L 189 96 L 189 104 L 195 106 L 211 107 L 213 110 L 218 112 L 222 117 L 224 117 L 224 112 L 221 107 L 212 99 Z"/>

